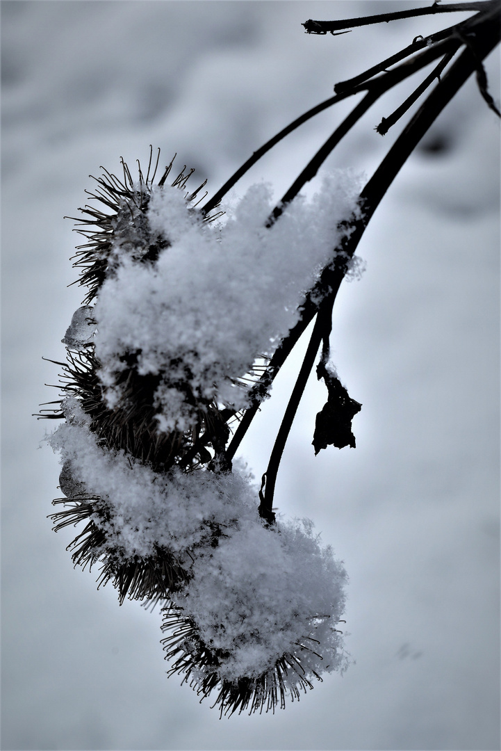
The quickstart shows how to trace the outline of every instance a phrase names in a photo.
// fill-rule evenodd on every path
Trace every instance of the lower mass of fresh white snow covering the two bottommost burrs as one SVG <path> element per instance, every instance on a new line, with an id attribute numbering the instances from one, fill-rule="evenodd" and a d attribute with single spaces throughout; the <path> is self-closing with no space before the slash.
<path id="1" fill-rule="evenodd" d="M 85 488 L 107 509 L 107 519 L 93 517 L 106 533 L 96 555 L 113 548 L 126 561 L 151 556 L 160 546 L 183 562 L 190 581 L 172 600 L 205 645 L 224 655 L 220 680 L 259 677 L 284 654 L 299 659 L 307 678 L 347 667 L 335 628 L 347 575 L 331 547 L 320 546 L 311 521 L 279 520 L 266 529 L 245 467 L 220 475 L 203 469 L 159 475 L 98 445 L 78 400 L 71 397 L 63 407 L 66 421 L 49 444 L 71 468 L 73 487 Z M 294 674 L 287 683 L 296 683 Z"/>

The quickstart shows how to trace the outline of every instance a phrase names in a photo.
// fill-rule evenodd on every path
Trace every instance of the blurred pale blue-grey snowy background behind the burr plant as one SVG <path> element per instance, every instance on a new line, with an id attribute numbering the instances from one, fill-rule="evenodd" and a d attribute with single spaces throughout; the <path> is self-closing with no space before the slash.
<path id="1" fill-rule="evenodd" d="M 51 531 L 52 424 L 31 417 L 56 398 L 43 383 L 58 369 L 41 358 L 64 357 L 83 297 L 67 288 L 77 236 L 62 217 L 85 203 L 89 173 L 145 161 L 152 143 L 215 191 L 336 81 L 453 23 L 334 38 L 303 21 L 407 7 L 1 3 L 3 749 L 499 748 L 499 122 L 474 81 L 398 176 L 359 247 L 365 275 L 335 305 L 334 360 L 363 403 L 357 448 L 314 457 L 313 380 L 278 477 L 280 511 L 313 518 L 350 575 L 344 677 L 275 716 L 221 721 L 167 680 L 160 613 L 96 592 L 98 572 L 65 552 L 73 533 Z M 487 71 L 499 101 L 498 53 Z M 394 137 L 374 126 L 406 91 L 330 164 L 371 174 Z M 238 192 L 265 179 L 279 197 L 347 106 L 296 131 Z M 293 377 L 281 373 L 242 446 L 257 476 Z"/>

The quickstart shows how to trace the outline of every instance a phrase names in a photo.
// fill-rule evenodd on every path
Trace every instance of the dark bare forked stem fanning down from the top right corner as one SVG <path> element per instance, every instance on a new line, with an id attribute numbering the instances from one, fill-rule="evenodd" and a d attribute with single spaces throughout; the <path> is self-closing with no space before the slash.
<path id="1" fill-rule="evenodd" d="M 432 8 L 433 7 L 434 6 L 432 6 Z M 442 6 L 437 7 L 442 8 Z M 482 95 L 484 95 L 484 98 L 486 98 L 484 92 L 487 92 L 487 80 L 484 78 L 484 68 L 482 61 L 490 53 L 490 51 L 493 50 L 494 47 L 496 47 L 496 44 L 499 44 L 499 5 L 495 5 L 493 2 L 483 2 L 460 4 L 460 6 L 456 6 L 455 8 L 452 8 L 452 6 L 444 6 L 444 8 L 456 11 L 469 10 L 480 12 L 478 12 L 475 17 L 472 17 L 472 19 L 469 19 L 468 21 L 463 22 L 456 27 L 452 26 L 449 29 L 446 29 L 444 32 L 440 32 L 438 35 L 434 35 L 434 42 L 431 44 L 431 46 L 426 48 L 424 53 L 413 57 L 412 59 L 410 59 L 410 61 L 405 62 L 398 68 L 395 68 L 392 71 L 388 71 L 382 76 L 370 81 L 361 81 L 361 77 L 357 77 L 356 79 L 352 80 L 352 83 L 353 81 L 356 81 L 356 83 L 352 86 L 351 89 L 348 87 L 344 89 L 344 94 L 350 95 L 353 92 L 358 93 L 363 89 L 366 89 L 368 93 L 365 95 L 365 98 L 363 98 L 362 101 L 356 105 L 354 110 L 352 110 L 352 112 L 347 116 L 344 122 L 342 122 L 341 125 L 335 130 L 332 136 L 329 137 L 326 143 L 324 143 L 324 145 L 317 152 L 314 158 L 311 159 L 310 163 L 305 167 L 305 169 L 302 170 L 302 173 L 298 176 L 296 181 L 293 182 L 293 185 L 291 185 L 290 189 L 285 193 L 281 203 L 278 204 L 278 206 L 275 208 L 272 217 L 270 217 L 268 226 L 271 226 L 275 219 L 280 216 L 284 204 L 287 204 L 288 201 L 291 201 L 299 193 L 303 185 L 305 185 L 305 182 L 308 182 L 309 179 L 312 179 L 312 177 L 314 177 L 320 166 L 326 160 L 327 156 L 332 152 L 332 149 L 334 149 L 335 146 L 340 142 L 341 138 L 344 137 L 344 135 L 346 135 L 351 130 L 351 128 L 353 128 L 353 125 L 355 125 L 362 114 L 364 114 L 371 107 L 371 105 L 374 104 L 374 101 L 377 101 L 377 99 L 380 98 L 380 96 L 384 92 L 386 92 L 393 86 L 396 86 L 401 82 L 401 80 L 404 80 L 409 75 L 413 74 L 416 71 L 419 71 L 421 68 L 425 67 L 425 65 L 428 65 L 429 62 L 433 62 L 434 59 L 441 57 L 440 63 L 434 68 L 433 71 L 431 71 L 431 74 L 428 74 L 428 76 L 425 78 L 425 80 L 423 80 L 422 84 L 417 87 L 413 94 L 410 95 L 410 97 L 408 97 L 404 101 L 401 107 L 398 107 L 398 109 L 395 110 L 395 112 L 391 116 L 389 116 L 389 118 L 387 118 L 386 120 L 383 119 L 383 123 L 380 124 L 380 126 L 378 126 L 377 128 L 379 132 L 387 132 L 389 127 L 391 125 L 394 125 L 395 122 L 397 122 L 398 119 L 400 119 L 401 116 L 403 116 L 404 113 L 409 110 L 410 106 L 414 104 L 415 101 L 417 101 L 419 96 L 422 95 L 423 92 L 425 92 L 425 89 L 427 89 L 428 86 L 431 85 L 433 80 L 438 79 L 437 86 L 428 96 L 428 99 L 425 101 L 425 103 L 422 104 L 422 107 L 420 107 L 418 112 L 413 116 L 413 118 L 404 128 L 404 131 L 402 131 L 400 137 L 398 137 L 392 148 L 389 150 L 389 153 L 386 155 L 386 158 L 383 159 L 380 167 L 377 168 L 374 175 L 362 190 L 362 193 L 360 195 L 360 202 L 363 210 L 362 219 L 356 219 L 350 225 L 351 229 L 349 237 L 345 237 L 345 240 L 341 244 L 341 247 L 335 249 L 335 253 L 333 254 L 334 256 L 337 255 L 339 258 L 340 256 L 338 254 L 338 251 L 341 250 L 341 258 L 352 258 L 353 254 L 356 251 L 356 247 L 358 246 L 359 241 L 362 238 L 365 228 L 367 227 L 368 222 L 371 219 L 371 216 L 374 214 L 374 211 L 383 198 L 383 195 L 385 195 L 387 189 L 389 188 L 389 185 L 392 184 L 393 179 L 395 179 L 395 176 L 398 174 L 399 170 L 401 170 L 401 167 L 405 164 L 407 158 L 416 148 L 419 140 L 422 139 L 426 131 L 428 131 L 428 128 L 430 128 L 435 119 L 437 119 L 437 116 L 440 114 L 443 108 L 446 107 L 452 97 L 458 92 L 460 87 L 463 86 L 463 83 L 465 83 L 465 81 L 473 73 L 476 73 L 477 76 L 480 76 L 481 93 Z M 411 13 L 410 11 L 402 11 L 401 14 L 398 14 L 395 17 L 424 15 L 425 11 L 430 11 L 430 9 L 419 9 L 419 11 L 422 12 Z M 443 11 L 434 10 L 431 12 L 437 13 Z M 386 15 L 390 15 L 392 16 L 392 18 L 370 17 L 369 20 L 366 20 L 366 23 L 376 23 L 376 21 L 371 20 L 374 18 L 377 18 L 378 20 L 393 20 L 395 14 Z M 347 22 L 340 23 L 342 24 Z M 362 26 L 362 23 L 357 23 L 354 25 Z M 332 28 L 341 29 L 346 27 L 333 26 Z M 465 41 L 466 39 L 467 43 Z M 425 46 L 425 44 L 423 44 L 422 46 Z M 411 48 L 412 47 L 413 46 L 411 45 Z M 449 62 L 452 61 L 452 58 L 455 56 L 455 53 L 457 53 L 460 47 L 464 47 L 463 53 L 461 53 L 458 61 L 455 62 L 450 70 L 447 71 L 447 73 L 441 78 L 441 74 L 447 68 Z M 406 50 L 410 50 L 411 48 L 408 47 L 406 48 Z M 399 55 L 403 56 L 404 52 L 405 50 L 403 50 L 402 53 L 399 53 Z M 396 59 L 396 56 L 394 56 L 394 59 Z M 385 61 L 386 64 L 387 62 L 388 61 Z M 375 66 L 374 68 L 371 68 L 368 73 L 380 73 L 380 70 L 380 66 Z M 487 94 L 487 97 L 490 97 L 490 95 Z M 335 102 L 331 101 L 331 104 L 333 103 Z M 488 99 L 487 103 L 490 104 Z M 496 111 L 495 105 L 493 105 L 493 109 L 495 109 Z M 319 318 L 317 319 L 317 324 L 314 327 L 314 331 L 311 336 L 311 342 L 308 345 L 308 351 L 305 355 L 305 361 L 302 365 L 302 369 L 299 372 L 296 386 L 293 390 L 293 394 L 290 397 L 290 402 L 287 405 L 284 419 L 278 431 L 278 436 L 275 440 L 275 445 L 269 460 L 269 466 L 266 470 L 266 487 L 264 493 L 263 489 L 261 493 L 260 513 L 266 520 L 269 521 L 274 517 L 272 505 L 278 466 L 280 464 L 281 456 L 287 442 L 287 436 L 289 435 L 290 427 L 293 423 L 293 418 L 296 415 L 296 410 L 299 406 L 299 400 L 301 399 L 301 396 L 305 389 L 308 375 L 314 366 L 315 357 L 317 356 L 317 351 L 322 341 L 321 332 L 324 328 L 322 324 L 323 316 L 332 315 L 332 306 L 334 305 L 336 294 L 346 271 L 346 263 L 336 264 L 335 262 L 333 262 L 329 267 L 326 267 L 326 269 L 323 271 L 315 289 L 311 291 L 311 293 L 308 294 L 305 298 L 305 303 L 303 303 L 302 306 L 300 321 L 290 331 L 286 339 L 281 342 L 281 345 L 278 347 L 274 357 L 272 357 L 272 360 L 269 363 L 268 369 L 266 369 L 260 381 L 257 382 L 254 388 L 251 390 L 251 407 L 243 415 L 239 427 L 237 428 L 236 433 L 226 450 L 228 457 L 234 456 L 237 448 L 240 445 L 240 442 L 242 442 L 242 439 L 244 438 L 245 433 L 248 430 L 248 427 L 251 425 L 251 421 L 253 420 L 254 416 L 257 413 L 257 410 L 259 409 L 260 403 L 262 402 L 268 391 L 269 385 L 272 384 L 275 376 L 278 373 L 278 370 L 281 368 L 284 361 L 287 359 L 287 356 L 293 350 L 294 346 L 299 340 L 299 337 L 302 335 L 306 327 L 308 327 L 315 315 L 317 315 L 318 313 Z M 323 300 L 323 302 L 318 303 L 318 300 Z M 322 311 L 321 315 L 320 310 Z"/>

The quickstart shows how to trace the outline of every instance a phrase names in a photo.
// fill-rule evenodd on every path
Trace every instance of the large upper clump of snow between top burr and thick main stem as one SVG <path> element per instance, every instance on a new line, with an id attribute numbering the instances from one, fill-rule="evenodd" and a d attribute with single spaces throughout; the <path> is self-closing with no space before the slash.
<path id="1" fill-rule="evenodd" d="M 203 223 L 177 189 L 153 189 L 149 231 L 167 246 L 151 264 L 118 254 L 95 306 L 108 405 L 120 399 L 116 375 L 132 356 L 139 375 L 159 376 L 161 430 L 190 427 L 193 400 L 245 407 L 239 379 L 298 321 L 305 292 L 332 261 L 339 222 L 358 211 L 358 190 L 347 170 L 326 175 L 311 201 L 297 197 L 266 228 L 266 185 L 249 189 L 223 227 Z"/>

